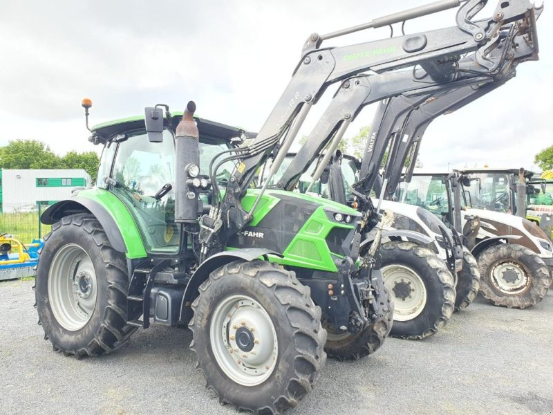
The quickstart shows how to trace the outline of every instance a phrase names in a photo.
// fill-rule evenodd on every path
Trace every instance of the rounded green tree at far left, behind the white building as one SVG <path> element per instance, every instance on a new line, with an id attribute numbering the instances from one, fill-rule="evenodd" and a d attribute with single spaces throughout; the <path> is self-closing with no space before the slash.
<path id="1" fill-rule="evenodd" d="M 0 147 L 4 169 L 58 169 L 62 160 L 44 142 L 14 140 Z"/>

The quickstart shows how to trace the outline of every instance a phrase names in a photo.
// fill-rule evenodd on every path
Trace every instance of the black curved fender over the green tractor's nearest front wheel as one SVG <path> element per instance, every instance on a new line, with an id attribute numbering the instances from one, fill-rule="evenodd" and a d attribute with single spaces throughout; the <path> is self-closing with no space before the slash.
<path id="1" fill-rule="evenodd" d="M 217 268 L 229 264 L 237 259 L 243 259 L 245 261 L 253 261 L 259 257 L 265 257 L 268 259 L 268 255 L 277 255 L 282 257 L 278 252 L 263 248 L 245 248 L 239 250 L 229 250 L 218 252 L 212 255 L 196 269 L 194 274 L 190 277 L 190 280 L 185 289 L 185 295 L 182 297 L 182 303 L 180 304 L 180 321 L 189 321 L 192 318 L 192 308 L 190 304 L 196 298 L 199 292 L 200 285 L 209 278 L 211 274 Z"/>

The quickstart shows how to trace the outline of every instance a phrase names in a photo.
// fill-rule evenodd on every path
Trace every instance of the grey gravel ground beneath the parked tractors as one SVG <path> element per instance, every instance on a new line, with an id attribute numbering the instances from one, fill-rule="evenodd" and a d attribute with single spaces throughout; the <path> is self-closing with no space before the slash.
<path id="1" fill-rule="evenodd" d="M 54 353 L 33 282 L 0 283 L 1 414 L 236 414 L 204 389 L 185 329 L 152 326 L 102 358 Z M 287 414 L 552 414 L 553 294 L 509 310 L 482 299 L 422 341 L 388 339 L 357 362 L 328 360 Z"/>

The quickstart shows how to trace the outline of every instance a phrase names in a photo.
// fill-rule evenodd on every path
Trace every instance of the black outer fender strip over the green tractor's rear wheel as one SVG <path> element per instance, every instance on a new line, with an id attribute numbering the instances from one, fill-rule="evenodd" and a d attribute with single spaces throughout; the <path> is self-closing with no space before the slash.
<path id="1" fill-rule="evenodd" d="M 40 216 L 40 221 L 45 225 L 52 225 L 59 221 L 64 216 L 77 213 L 91 213 L 93 214 L 108 237 L 109 243 L 113 246 L 113 249 L 119 252 L 127 252 L 123 236 L 119 230 L 117 223 L 111 214 L 97 201 L 88 199 L 85 197 L 73 197 L 65 201 L 59 201 L 51 205 Z"/>

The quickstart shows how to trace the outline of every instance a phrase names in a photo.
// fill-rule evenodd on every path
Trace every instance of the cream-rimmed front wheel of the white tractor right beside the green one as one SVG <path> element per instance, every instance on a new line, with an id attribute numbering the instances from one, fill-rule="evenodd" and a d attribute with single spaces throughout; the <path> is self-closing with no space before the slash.
<path id="1" fill-rule="evenodd" d="M 444 261 L 411 242 L 384 243 L 380 254 L 384 285 L 395 307 L 390 335 L 422 339 L 437 333 L 451 317 L 456 297 Z"/>

